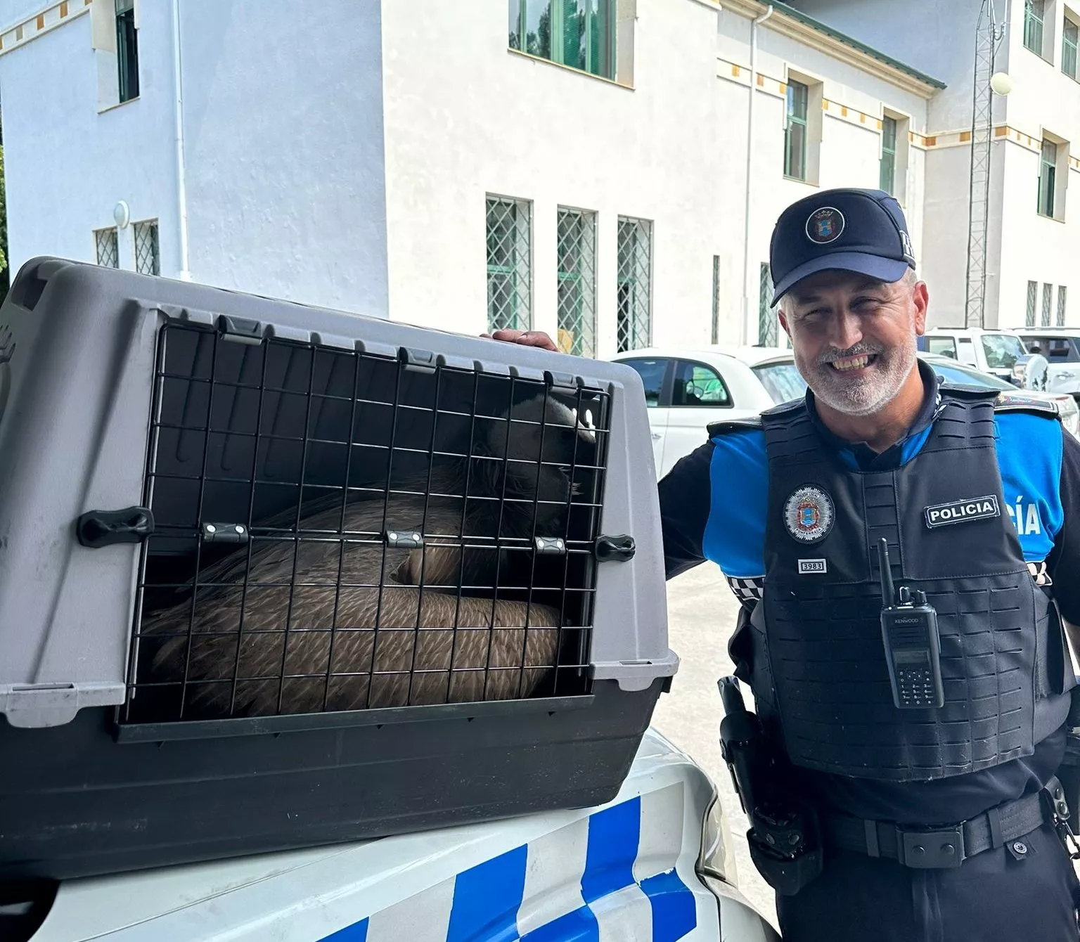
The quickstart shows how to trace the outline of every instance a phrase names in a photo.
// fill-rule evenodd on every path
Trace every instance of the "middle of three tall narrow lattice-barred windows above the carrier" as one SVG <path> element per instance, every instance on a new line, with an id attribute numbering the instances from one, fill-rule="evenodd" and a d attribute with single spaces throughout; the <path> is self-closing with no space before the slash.
<path id="1" fill-rule="evenodd" d="M 596 355 L 596 214 L 558 211 L 558 346 Z"/>

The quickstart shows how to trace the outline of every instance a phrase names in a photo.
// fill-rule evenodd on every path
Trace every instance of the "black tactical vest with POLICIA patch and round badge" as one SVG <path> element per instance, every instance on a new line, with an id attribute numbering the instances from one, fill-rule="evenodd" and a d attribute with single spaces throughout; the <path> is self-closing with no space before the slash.
<path id="1" fill-rule="evenodd" d="M 823 445 L 806 403 L 767 411 L 761 601 L 742 625 L 758 713 L 798 766 L 915 781 L 1030 755 L 1076 681 L 1056 606 L 1004 509 L 996 393 L 941 387 L 919 454 L 861 472 Z M 1000 406 L 999 406 L 1000 407 Z M 937 611 L 945 705 L 894 706 L 877 543 L 899 589 Z"/>

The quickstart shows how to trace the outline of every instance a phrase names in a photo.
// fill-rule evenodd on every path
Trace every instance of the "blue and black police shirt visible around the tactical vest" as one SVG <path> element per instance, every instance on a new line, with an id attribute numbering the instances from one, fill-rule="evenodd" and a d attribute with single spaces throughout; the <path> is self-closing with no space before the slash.
<path id="1" fill-rule="evenodd" d="M 818 433 L 851 468 L 882 471 L 912 460 L 930 434 L 939 378 L 919 361 L 927 395 L 907 435 L 878 454 L 831 432 L 807 391 Z M 1024 559 L 1039 584 L 1049 586 L 1062 616 L 1080 624 L 1080 441 L 1059 422 L 1021 412 L 999 413 L 997 456 L 1009 516 Z M 660 482 L 667 578 L 716 563 L 744 604 L 760 598 L 765 576 L 768 466 L 760 429 L 727 431 L 678 461 Z M 723 631 L 725 625 L 717 625 Z M 733 625 L 728 627 L 733 630 Z M 932 782 L 875 782 L 805 770 L 805 786 L 831 806 L 862 818 L 918 823 L 962 820 L 1000 802 L 1038 791 L 1054 775 L 1064 729 L 1036 753 L 985 771 Z M 927 815 L 932 815 L 926 819 Z"/>

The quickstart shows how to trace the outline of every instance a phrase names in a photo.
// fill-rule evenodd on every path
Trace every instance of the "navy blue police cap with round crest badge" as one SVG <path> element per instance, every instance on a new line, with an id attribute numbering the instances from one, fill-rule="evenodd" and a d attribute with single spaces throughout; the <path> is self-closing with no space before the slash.
<path id="1" fill-rule="evenodd" d="M 822 190 L 792 203 L 769 246 L 772 307 L 796 284 L 827 269 L 892 283 L 915 268 L 904 211 L 885 190 Z"/>

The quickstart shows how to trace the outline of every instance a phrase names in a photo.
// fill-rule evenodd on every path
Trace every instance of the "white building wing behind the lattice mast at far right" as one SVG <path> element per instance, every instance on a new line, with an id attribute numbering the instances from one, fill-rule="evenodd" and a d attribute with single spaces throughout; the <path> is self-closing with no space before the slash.
<path id="1" fill-rule="evenodd" d="M 975 27 L 982 0 L 793 0 L 932 71 L 922 275 L 932 325 L 964 324 Z M 1080 0 L 995 0 L 1004 37 L 995 96 L 985 324 L 1080 324 Z"/>

